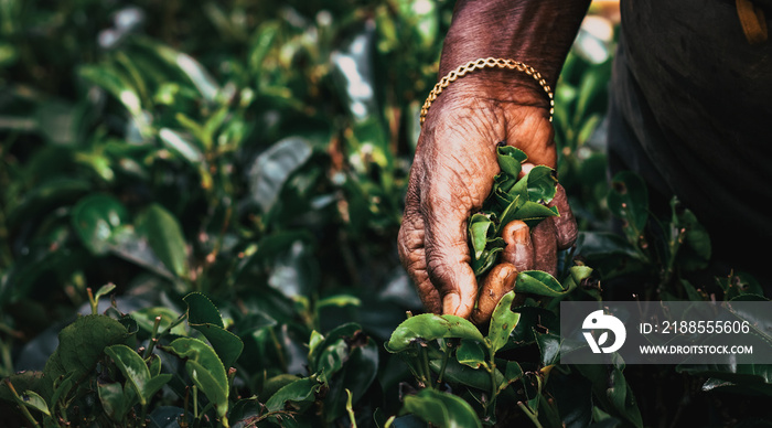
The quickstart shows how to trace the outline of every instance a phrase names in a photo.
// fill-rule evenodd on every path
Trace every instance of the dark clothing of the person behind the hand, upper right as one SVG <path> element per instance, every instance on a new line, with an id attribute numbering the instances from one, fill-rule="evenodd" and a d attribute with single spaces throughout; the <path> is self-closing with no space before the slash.
<path id="1" fill-rule="evenodd" d="M 708 229 L 715 258 L 763 268 L 772 244 L 772 40 L 751 45 L 733 1 L 621 8 L 609 113 L 610 161 L 621 163 L 612 168 L 639 172 L 658 204 L 677 195 Z"/>

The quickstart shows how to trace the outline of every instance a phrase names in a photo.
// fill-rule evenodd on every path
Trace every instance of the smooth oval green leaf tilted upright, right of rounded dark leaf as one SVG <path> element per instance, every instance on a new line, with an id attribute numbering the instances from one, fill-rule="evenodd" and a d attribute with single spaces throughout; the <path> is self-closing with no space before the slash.
<path id="1" fill-rule="evenodd" d="M 187 253 L 182 226 L 176 217 L 158 203 L 150 205 L 140 227 L 153 253 L 180 278 L 187 277 Z"/>

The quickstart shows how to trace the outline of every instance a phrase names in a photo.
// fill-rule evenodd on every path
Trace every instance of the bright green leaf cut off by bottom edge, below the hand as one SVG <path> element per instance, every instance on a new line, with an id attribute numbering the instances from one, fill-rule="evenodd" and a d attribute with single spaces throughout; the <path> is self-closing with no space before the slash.
<path id="1" fill-rule="evenodd" d="M 405 397 L 403 414 L 412 414 L 443 428 L 482 428 L 472 406 L 461 397 L 432 388 Z"/>

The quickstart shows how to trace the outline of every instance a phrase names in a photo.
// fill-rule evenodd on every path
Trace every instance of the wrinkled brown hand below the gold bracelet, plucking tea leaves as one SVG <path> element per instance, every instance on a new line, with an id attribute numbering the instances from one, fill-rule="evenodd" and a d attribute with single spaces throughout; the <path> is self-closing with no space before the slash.
<path id="1" fill-rule="evenodd" d="M 474 311 L 478 283 L 470 266 L 467 218 L 480 210 L 500 171 L 496 145 L 504 141 L 523 150 L 533 164 L 555 168 L 557 161 L 543 103 L 522 105 L 492 94 L 490 88 L 481 93 L 457 82 L 431 106 L 416 149 L 398 236 L 400 260 L 426 309 L 478 323 L 490 318 L 505 293 L 483 289 L 482 304 Z M 514 97 L 512 92 L 505 94 Z M 518 244 L 510 249 L 517 255 L 514 267 L 496 269 L 502 289 L 514 287 L 513 268 L 554 272 L 557 249 L 572 245 L 576 223 L 562 188 L 558 196 L 553 203 L 561 217 L 516 234 Z"/>

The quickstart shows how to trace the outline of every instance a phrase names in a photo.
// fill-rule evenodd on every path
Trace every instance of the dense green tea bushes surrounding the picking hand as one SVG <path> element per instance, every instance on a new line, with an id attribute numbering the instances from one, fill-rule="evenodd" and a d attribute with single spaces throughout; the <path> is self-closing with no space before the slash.
<path id="1" fill-rule="evenodd" d="M 611 55 L 580 45 L 555 113 L 577 246 L 557 277 L 521 275 L 533 298 L 507 295 L 490 325 L 421 313 L 395 238 L 451 12 L 0 2 L 0 425 L 643 426 L 705 420 L 706 400 L 722 420 L 763 414 L 747 397 L 769 397 L 768 366 L 557 363 L 557 303 L 605 283 L 762 299 L 741 275 L 693 285 L 710 255 L 694 216 L 674 201 L 650 218 L 631 173 L 607 183 Z"/>

